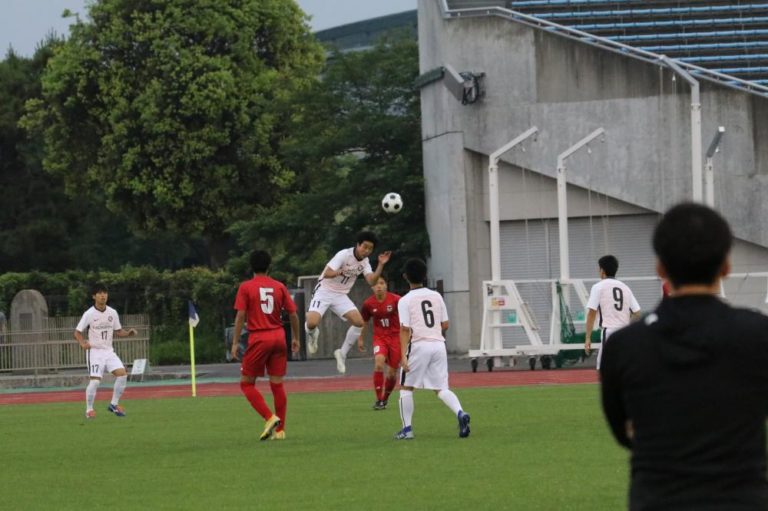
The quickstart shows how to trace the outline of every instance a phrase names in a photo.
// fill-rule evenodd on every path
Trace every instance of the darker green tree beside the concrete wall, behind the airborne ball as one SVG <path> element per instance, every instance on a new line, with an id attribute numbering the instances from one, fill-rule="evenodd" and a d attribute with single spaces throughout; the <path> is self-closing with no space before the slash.
<path id="1" fill-rule="evenodd" d="M 284 279 L 319 273 L 361 229 L 395 251 L 390 279 L 405 258 L 427 256 L 418 73 L 409 37 L 333 53 L 322 80 L 295 104 L 292 136 L 281 147 L 297 174 L 294 193 L 235 224 L 241 246 L 271 248 Z M 387 192 L 401 194 L 401 213 L 381 209 Z"/>

